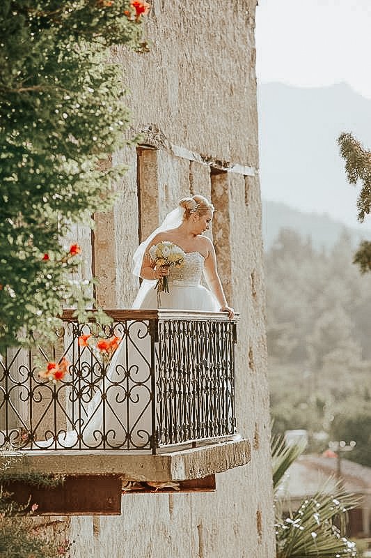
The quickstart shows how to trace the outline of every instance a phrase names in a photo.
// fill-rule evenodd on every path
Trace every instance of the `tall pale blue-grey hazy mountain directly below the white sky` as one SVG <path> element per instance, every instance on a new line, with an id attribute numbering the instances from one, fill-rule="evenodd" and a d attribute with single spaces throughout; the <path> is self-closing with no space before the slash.
<path id="1" fill-rule="evenodd" d="M 345 83 L 267 83 L 258 87 L 258 115 L 262 197 L 356 227 L 359 188 L 347 183 L 337 140 L 349 131 L 371 147 L 371 100 Z"/>

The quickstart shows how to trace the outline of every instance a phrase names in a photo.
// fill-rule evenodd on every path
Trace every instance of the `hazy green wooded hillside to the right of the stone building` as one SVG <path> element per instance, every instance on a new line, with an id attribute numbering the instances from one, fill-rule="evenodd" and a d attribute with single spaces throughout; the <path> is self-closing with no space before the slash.
<path id="1" fill-rule="evenodd" d="M 318 252 L 286 230 L 266 255 L 274 431 L 305 428 L 311 451 L 326 448 L 338 401 L 352 407 L 368 393 L 371 275 L 352 251 L 346 232 Z"/>

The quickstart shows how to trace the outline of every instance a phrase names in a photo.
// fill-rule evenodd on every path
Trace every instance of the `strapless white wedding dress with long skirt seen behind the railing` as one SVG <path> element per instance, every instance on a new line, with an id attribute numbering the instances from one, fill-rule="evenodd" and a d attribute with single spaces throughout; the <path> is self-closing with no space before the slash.
<path id="1" fill-rule="evenodd" d="M 219 312 L 212 292 L 200 285 L 204 263 L 200 252 L 185 252 L 182 267 L 172 267 L 170 270 L 169 292 L 161 292 L 160 295 L 161 310 Z M 145 283 L 145 288 L 141 288 L 136 296 L 133 309 L 157 309 L 156 282 Z M 127 323 L 127 334 L 113 355 L 104 379 L 96 376 L 95 394 L 85 405 L 84 414 L 76 428 L 70 423 L 66 430 L 59 431 L 56 441 L 49 438 L 44 442 L 36 442 L 38 447 L 149 449 L 152 414 L 151 378 L 148 372 L 150 336 L 144 335 L 146 327 L 140 321 Z M 82 352 L 81 361 L 84 358 L 88 361 L 91 354 L 89 356 L 87 348 L 84 350 L 86 356 Z M 80 366 L 82 369 L 84 363 L 80 363 Z M 78 404 L 81 405 L 81 402 Z"/>

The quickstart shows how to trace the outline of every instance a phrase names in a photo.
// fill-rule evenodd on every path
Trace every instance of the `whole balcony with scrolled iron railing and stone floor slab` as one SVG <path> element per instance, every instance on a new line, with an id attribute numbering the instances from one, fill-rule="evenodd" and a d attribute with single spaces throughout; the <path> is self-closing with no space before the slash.
<path id="1" fill-rule="evenodd" d="M 60 343 L 17 349 L 1 363 L 0 448 L 16 469 L 120 475 L 146 481 L 200 479 L 250 460 L 236 430 L 237 319 L 175 310 L 106 310 L 112 323 L 63 314 Z M 121 338 L 111 363 L 82 335 Z M 40 361 L 69 363 L 56 383 Z"/>

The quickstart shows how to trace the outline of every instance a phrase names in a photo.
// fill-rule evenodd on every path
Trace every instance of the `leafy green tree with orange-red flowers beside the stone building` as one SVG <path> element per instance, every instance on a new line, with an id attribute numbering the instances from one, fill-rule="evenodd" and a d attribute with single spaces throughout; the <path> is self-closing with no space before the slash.
<path id="1" fill-rule="evenodd" d="M 128 113 L 109 48 L 143 51 L 129 0 L 3 0 L 0 6 L 0 354 L 91 305 L 74 225 L 112 203 Z M 138 11 L 139 10 L 139 11 Z"/>

